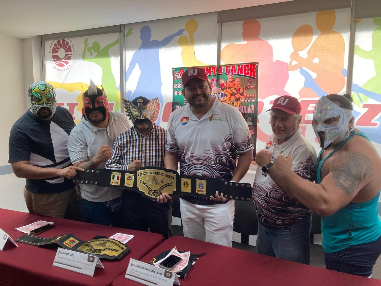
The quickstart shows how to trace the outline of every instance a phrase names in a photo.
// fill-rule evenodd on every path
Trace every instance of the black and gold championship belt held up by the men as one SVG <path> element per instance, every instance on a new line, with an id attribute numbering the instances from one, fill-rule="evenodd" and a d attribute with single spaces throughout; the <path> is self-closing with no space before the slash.
<path id="1" fill-rule="evenodd" d="M 181 176 L 174 170 L 162 167 L 136 168 L 134 172 L 109 169 L 85 169 L 77 171 L 72 182 L 102 187 L 134 190 L 146 198 L 156 201 L 163 193 L 210 197 L 216 191 L 225 198 L 250 201 L 251 185 L 248 183 L 227 182 L 217 178 Z"/>

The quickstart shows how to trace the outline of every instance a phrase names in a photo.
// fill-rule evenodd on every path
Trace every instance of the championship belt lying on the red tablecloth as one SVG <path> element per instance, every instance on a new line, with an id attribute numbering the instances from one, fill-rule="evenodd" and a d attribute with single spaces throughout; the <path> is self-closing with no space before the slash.
<path id="1" fill-rule="evenodd" d="M 16 241 L 35 246 L 52 246 L 54 248 L 59 246 L 64 249 L 91 254 L 99 258 L 117 260 L 122 259 L 130 251 L 130 248 L 126 244 L 115 239 L 98 238 L 82 241 L 72 234 L 58 235 L 50 238 L 28 234 L 19 237 Z"/>

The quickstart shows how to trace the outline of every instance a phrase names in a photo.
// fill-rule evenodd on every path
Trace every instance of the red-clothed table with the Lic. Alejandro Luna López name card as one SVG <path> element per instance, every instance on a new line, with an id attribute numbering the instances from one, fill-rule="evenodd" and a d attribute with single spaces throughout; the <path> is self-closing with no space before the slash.
<path id="1" fill-rule="evenodd" d="M 245 285 L 292 285 L 338 286 L 381 285 L 381 280 L 339 273 L 319 267 L 290 262 L 253 252 L 220 246 L 183 236 L 173 236 L 140 259 L 149 263 L 163 251 L 175 247 L 191 254 L 207 252 L 199 257 L 181 286 L 245 286 Z M 120 275 L 112 286 L 141 285 Z"/>

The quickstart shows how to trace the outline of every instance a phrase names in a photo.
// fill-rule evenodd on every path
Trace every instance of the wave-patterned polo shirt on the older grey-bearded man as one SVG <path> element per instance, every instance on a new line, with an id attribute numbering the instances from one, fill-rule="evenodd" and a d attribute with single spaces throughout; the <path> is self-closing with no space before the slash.
<path id="1" fill-rule="evenodd" d="M 316 151 L 301 133 L 299 127 L 295 134 L 282 145 L 277 143 L 278 140 L 274 138 L 273 134 L 267 140 L 265 149 L 269 150 L 275 159 L 279 155 L 291 154 L 291 169 L 303 179 L 314 182 Z M 285 193 L 270 175 L 264 177 L 261 169 L 261 167 L 257 167 L 253 183 L 253 204 L 261 224 L 270 227 L 284 227 L 311 214 L 311 210 L 296 198 Z"/>

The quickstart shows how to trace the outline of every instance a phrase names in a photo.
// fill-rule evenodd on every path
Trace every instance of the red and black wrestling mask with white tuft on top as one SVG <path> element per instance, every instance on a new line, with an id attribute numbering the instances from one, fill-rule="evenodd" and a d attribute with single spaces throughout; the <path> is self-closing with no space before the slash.
<path id="1" fill-rule="evenodd" d="M 101 85 L 102 87 L 102 85 Z M 109 106 L 104 89 L 98 88 L 90 79 L 88 90 L 82 93 L 83 114 L 87 121 L 99 123 L 109 117 Z"/>

